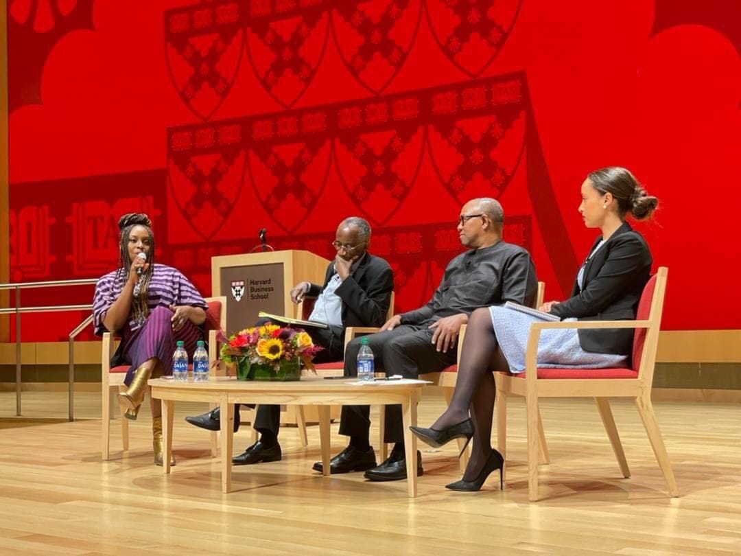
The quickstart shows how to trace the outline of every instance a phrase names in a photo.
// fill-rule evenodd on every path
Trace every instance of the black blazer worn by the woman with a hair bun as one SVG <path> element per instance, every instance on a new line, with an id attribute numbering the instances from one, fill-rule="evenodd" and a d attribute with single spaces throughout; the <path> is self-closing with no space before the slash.
<path id="1" fill-rule="evenodd" d="M 600 240 L 592 245 L 590 254 Z M 624 222 L 585 262 L 583 288 L 574 283 L 571 298 L 554 305 L 551 313 L 579 320 L 633 320 L 643 287 L 651 277 L 651 251 L 643 236 Z M 628 355 L 633 350 L 631 328 L 579 330 L 584 351 Z"/>

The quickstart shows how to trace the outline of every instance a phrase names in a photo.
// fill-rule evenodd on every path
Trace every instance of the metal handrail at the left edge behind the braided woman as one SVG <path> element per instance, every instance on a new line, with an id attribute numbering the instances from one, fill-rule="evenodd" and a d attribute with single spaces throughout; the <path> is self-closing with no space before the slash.
<path id="1" fill-rule="evenodd" d="M 16 315 L 16 416 L 21 415 L 21 317 L 22 313 L 46 313 L 52 311 L 87 311 L 93 308 L 93 305 L 44 305 L 39 307 L 23 307 L 21 308 L 21 289 L 27 288 L 59 288 L 68 285 L 90 285 L 98 282 L 96 278 L 81 278 L 73 280 L 47 280 L 46 282 L 14 282 L 9 284 L 0 284 L 1 290 L 16 290 L 16 306 L 14 308 L 0 308 L 0 315 L 2 314 L 15 314 Z M 89 320 L 92 320 L 92 315 L 85 319 L 84 325 L 89 324 Z M 78 328 L 84 328 L 82 323 Z M 74 366 L 73 366 L 73 348 L 72 342 L 74 337 L 82 331 L 75 328 L 73 331 L 74 336 L 70 334 L 70 377 L 69 377 L 69 402 L 68 402 L 68 413 L 69 420 L 75 420 L 74 410 Z"/>

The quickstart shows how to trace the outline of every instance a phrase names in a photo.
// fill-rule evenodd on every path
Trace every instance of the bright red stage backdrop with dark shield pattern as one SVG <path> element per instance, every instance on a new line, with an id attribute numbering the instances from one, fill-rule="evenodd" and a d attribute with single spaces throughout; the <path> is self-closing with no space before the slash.
<path id="1" fill-rule="evenodd" d="M 330 257 L 336 223 L 360 214 L 408 310 L 460 251 L 461 203 L 494 196 L 505 239 L 531 250 L 559 299 L 596 235 L 576 214 L 579 185 L 624 165 L 661 201 L 638 226 L 670 268 L 664 328 L 741 328 L 726 214 L 741 182 L 737 2 L 8 11 L 13 281 L 109 271 L 116 219 L 137 210 L 153 216 L 158 259 L 209 294 L 210 257 L 247 251 L 259 228 L 276 248 Z M 23 295 L 86 302 L 90 287 Z M 23 340 L 65 337 L 81 318 L 26 316 Z"/>

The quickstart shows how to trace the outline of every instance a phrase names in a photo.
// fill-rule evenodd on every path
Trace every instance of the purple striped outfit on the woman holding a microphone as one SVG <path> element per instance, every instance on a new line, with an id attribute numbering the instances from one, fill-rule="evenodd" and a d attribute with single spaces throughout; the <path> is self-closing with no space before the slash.
<path id="1" fill-rule="evenodd" d="M 98 280 L 93 297 L 93 326 L 95 334 L 108 332 L 103 325 L 105 315 L 118 299 L 128 277 L 127 272 L 113 271 Z M 175 342 L 183 340 L 188 357 L 193 357 L 196 342 L 202 340 L 202 327 L 188 320 L 179 331 L 173 332 L 169 305 L 191 305 L 207 310 L 208 306 L 198 290 L 183 274 L 167 265 L 155 264 L 147 290 L 149 314 L 144 322 L 136 322 L 133 311 L 122 330 L 110 331 L 121 336 L 121 345 L 111 365 L 130 365 L 124 382 L 128 385 L 134 371 L 147 360 L 156 357 L 162 363 L 164 374 L 173 372 Z"/>

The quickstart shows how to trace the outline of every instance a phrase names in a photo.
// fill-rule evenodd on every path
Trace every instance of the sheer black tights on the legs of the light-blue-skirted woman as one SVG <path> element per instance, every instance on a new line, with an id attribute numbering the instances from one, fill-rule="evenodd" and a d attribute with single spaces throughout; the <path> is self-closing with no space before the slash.
<path id="1" fill-rule="evenodd" d="M 468 419 L 470 408 L 476 431 L 473 434 L 471 460 L 463 474 L 464 480 L 478 477 L 491 454 L 491 422 L 496 399 L 496 386 L 491 371 L 507 368 L 507 360 L 496 342 L 488 308 L 476 309 L 466 327 L 451 405 L 432 425 L 432 428 L 439 431 L 460 423 Z"/>

